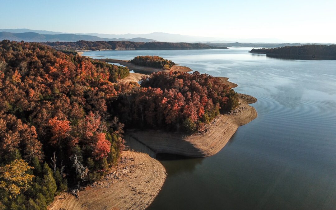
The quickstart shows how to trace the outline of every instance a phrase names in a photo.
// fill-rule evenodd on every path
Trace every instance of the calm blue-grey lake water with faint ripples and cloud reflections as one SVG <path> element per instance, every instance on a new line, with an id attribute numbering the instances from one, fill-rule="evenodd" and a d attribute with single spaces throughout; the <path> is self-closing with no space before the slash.
<path id="1" fill-rule="evenodd" d="M 258 118 L 216 155 L 161 161 L 167 179 L 153 209 L 336 209 L 336 60 L 289 60 L 251 48 L 127 50 L 230 78 L 255 96 Z M 99 57 L 96 57 L 99 58 Z"/>

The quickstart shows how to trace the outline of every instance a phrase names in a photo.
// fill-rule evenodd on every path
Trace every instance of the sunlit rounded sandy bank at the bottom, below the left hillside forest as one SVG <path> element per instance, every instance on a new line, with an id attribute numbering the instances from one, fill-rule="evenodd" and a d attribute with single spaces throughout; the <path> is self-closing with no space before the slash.
<path id="1" fill-rule="evenodd" d="M 166 170 L 159 161 L 145 153 L 124 151 L 118 166 L 80 191 L 80 198 L 61 194 L 48 209 L 145 209 L 165 178 Z"/>

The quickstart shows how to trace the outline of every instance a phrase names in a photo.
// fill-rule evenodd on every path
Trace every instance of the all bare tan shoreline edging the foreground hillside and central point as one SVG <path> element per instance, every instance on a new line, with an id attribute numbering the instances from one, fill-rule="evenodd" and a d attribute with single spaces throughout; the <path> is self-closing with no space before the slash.
<path id="1" fill-rule="evenodd" d="M 120 82 L 138 82 L 144 74 L 130 73 Z M 231 88 L 238 85 L 227 77 L 217 77 Z M 69 193 L 55 197 L 50 210 L 61 209 L 146 209 L 159 194 L 167 172 L 155 159 L 158 153 L 188 157 L 207 157 L 218 153 L 238 127 L 257 117 L 248 104 L 256 98 L 239 94 L 239 107 L 229 114 L 217 116 L 206 126 L 206 131 L 192 135 L 158 130 L 127 130 L 124 135 L 126 151 L 116 167 L 101 180 L 79 192 L 80 198 Z"/>

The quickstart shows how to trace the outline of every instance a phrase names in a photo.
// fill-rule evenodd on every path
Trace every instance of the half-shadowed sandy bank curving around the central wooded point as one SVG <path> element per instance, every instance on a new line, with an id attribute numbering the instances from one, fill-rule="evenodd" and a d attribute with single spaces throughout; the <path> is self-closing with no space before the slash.
<path id="1" fill-rule="evenodd" d="M 155 130 L 127 130 L 125 140 L 127 144 L 136 148 L 134 141 L 139 141 L 148 146 L 152 156 L 157 153 L 169 153 L 189 157 L 207 157 L 219 152 L 239 126 L 245 125 L 257 117 L 255 109 L 248 105 L 256 99 L 252 96 L 240 94 L 239 107 L 229 114 L 217 116 L 212 123 L 207 125 L 206 131 L 193 135 L 169 133 Z"/>

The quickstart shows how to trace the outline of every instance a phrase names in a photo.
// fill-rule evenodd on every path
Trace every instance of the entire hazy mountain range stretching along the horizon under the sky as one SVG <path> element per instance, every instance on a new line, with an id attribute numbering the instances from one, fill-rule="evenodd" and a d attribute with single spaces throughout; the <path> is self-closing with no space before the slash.
<path id="1" fill-rule="evenodd" d="M 240 42 L 223 41 L 214 37 L 187 36 L 180 34 L 169 34 L 154 32 L 150 34 L 99 34 L 99 33 L 63 33 L 31 29 L 0 29 L 0 40 L 9 39 L 13 41 L 26 42 L 76 42 L 85 41 L 131 41 L 131 42 L 190 42 L 204 43 L 214 48 L 222 47 L 281 47 L 298 46 L 302 43 L 285 43 L 283 40 L 268 39 L 244 39 Z M 208 40 L 208 41 L 202 41 Z M 262 41 L 260 41 L 262 40 Z M 321 44 L 321 43 L 314 43 Z M 324 43 L 331 45 L 331 43 Z"/>

